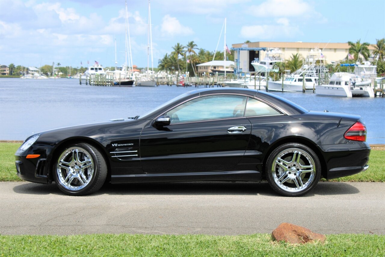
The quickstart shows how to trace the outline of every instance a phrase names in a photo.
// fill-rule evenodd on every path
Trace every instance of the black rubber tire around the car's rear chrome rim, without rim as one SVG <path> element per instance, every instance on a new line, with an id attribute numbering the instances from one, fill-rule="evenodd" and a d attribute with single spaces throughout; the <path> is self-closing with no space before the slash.
<path id="1" fill-rule="evenodd" d="M 298 149 L 301 149 L 303 151 L 306 151 L 311 156 L 311 158 L 313 158 L 313 161 L 315 164 L 315 177 L 314 177 L 313 181 L 311 181 L 310 185 L 308 185 L 305 190 L 300 191 L 300 192 L 288 192 L 288 191 L 283 190 L 278 185 L 276 185 L 275 180 L 273 178 L 273 174 L 271 173 L 271 166 L 273 166 L 273 160 L 275 159 L 276 155 L 278 155 L 278 153 L 280 153 L 281 151 L 288 149 L 288 148 L 298 148 Z M 286 144 L 283 144 L 283 145 L 275 148 L 271 152 L 271 154 L 269 155 L 269 157 L 266 161 L 265 175 L 266 175 L 266 179 L 267 179 L 269 185 L 276 192 L 278 192 L 284 196 L 299 197 L 299 196 L 305 195 L 305 194 L 309 193 L 311 190 L 313 190 L 314 187 L 316 186 L 316 184 L 318 183 L 318 181 L 320 180 L 320 178 L 321 178 L 321 163 L 320 163 L 318 156 L 315 154 L 315 152 L 310 147 L 308 147 L 304 144 L 300 144 L 300 143 L 286 143 Z"/>

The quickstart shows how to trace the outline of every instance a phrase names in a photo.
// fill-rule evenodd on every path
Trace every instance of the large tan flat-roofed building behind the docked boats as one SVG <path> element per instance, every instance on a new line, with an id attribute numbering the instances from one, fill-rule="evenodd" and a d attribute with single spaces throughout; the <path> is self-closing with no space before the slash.
<path id="1" fill-rule="evenodd" d="M 300 54 L 302 58 L 306 58 L 311 49 L 321 49 L 323 55 L 325 55 L 328 63 L 338 62 L 345 59 L 348 55 L 349 45 L 348 43 L 308 43 L 308 42 L 251 42 L 233 44 L 233 48 L 257 48 L 265 47 L 278 48 L 283 54 L 285 60 L 290 59 L 292 54 Z M 370 53 L 375 49 L 373 45 L 368 47 Z M 254 51 L 254 50 L 241 50 L 239 52 L 239 69 L 242 72 L 254 71 L 251 66 L 251 61 L 255 59 L 263 60 L 266 51 Z M 238 52 L 234 53 L 234 60 L 238 59 Z M 235 64 L 237 67 L 237 64 Z"/>

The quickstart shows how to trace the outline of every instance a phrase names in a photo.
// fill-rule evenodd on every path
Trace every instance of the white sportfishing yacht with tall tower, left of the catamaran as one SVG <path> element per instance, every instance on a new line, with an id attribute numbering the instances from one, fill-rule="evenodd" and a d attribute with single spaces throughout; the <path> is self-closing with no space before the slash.
<path id="1" fill-rule="evenodd" d="M 285 75 L 283 91 L 301 92 L 303 84 L 305 84 L 305 89 L 313 89 L 318 84 L 318 73 L 320 73 L 321 81 L 328 77 L 325 64 L 326 57 L 322 54 L 321 49 L 311 49 L 303 66 L 297 71 Z M 305 81 L 303 81 L 304 76 Z M 269 81 L 268 90 L 282 91 L 282 81 Z"/>

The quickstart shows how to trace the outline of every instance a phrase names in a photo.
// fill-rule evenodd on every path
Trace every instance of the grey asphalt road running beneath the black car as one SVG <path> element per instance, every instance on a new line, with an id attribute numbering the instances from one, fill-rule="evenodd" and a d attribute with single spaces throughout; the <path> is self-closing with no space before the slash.
<path id="1" fill-rule="evenodd" d="M 105 185 L 86 197 L 55 184 L 0 182 L 0 234 L 271 233 L 281 222 L 314 232 L 385 234 L 385 183 L 320 182 L 305 197 L 267 183 Z"/>

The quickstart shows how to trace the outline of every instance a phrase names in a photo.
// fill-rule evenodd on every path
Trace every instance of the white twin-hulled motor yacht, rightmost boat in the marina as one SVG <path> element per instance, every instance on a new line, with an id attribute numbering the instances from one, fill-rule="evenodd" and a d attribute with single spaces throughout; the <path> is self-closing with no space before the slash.
<path id="1" fill-rule="evenodd" d="M 341 64 L 342 66 L 343 64 Z M 316 86 L 317 96 L 374 97 L 372 85 L 377 77 L 377 66 L 357 62 L 354 72 L 336 72 L 328 85 Z"/>

